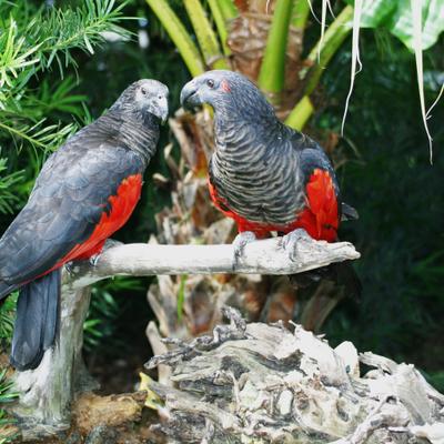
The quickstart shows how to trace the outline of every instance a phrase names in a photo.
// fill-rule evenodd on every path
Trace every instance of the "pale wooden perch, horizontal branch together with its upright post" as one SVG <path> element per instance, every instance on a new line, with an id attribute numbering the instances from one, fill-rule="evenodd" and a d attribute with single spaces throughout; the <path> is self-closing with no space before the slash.
<path id="1" fill-rule="evenodd" d="M 89 285 L 113 275 L 263 273 L 292 274 L 357 259 L 346 242 L 313 241 L 301 232 L 295 259 L 282 245 L 282 238 L 253 242 L 234 261 L 232 245 L 155 245 L 110 242 L 92 265 L 74 263 L 62 276 L 60 337 L 48 350 L 38 369 L 17 372 L 20 393 L 14 414 L 23 440 L 36 440 L 67 430 L 75 393 L 91 389 L 81 357 L 82 325 L 90 300 Z"/>

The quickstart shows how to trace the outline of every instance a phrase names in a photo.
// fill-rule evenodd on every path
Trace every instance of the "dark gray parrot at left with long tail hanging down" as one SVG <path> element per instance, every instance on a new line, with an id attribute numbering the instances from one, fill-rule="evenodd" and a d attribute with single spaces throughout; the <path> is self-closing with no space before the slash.
<path id="1" fill-rule="evenodd" d="M 99 254 L 130 218 L 168 117 L 168 88 L 128 87 L 44 163 L 28 203 L 0 239 L 0 301 L 20 289 L 11 363 L 36 369 L 54 343 L 60 270 Z"/>

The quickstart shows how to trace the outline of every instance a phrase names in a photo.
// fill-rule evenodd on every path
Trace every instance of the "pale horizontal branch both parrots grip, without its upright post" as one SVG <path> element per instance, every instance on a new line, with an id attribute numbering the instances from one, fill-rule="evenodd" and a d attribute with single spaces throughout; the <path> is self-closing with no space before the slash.
<path id="1" fill-rule="evenodd" d="M 231 244 L 222 245 L 111 245 L 92 265 L 75 263 L 63 278 L 63 285 L 81 289 L 114 275 L 145 276 L 157 274 L 295 274 L 333 262 L 359 259 L 349 242 L 314 241 L 301 230 L 294 259 L 282 244 L 282 238 L 255 241 L 245 245 L 244 254 L 234 260 Z"/>

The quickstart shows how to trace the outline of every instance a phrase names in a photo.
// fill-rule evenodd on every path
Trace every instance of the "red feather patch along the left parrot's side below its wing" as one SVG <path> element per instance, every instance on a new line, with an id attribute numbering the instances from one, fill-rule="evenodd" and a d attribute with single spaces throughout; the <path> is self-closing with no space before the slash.
<path id="1" fill-rule="evenodd" d="M 51 270 L 67 262 L 88 259 L 100 253 L 107 239 L 123 226 L 130 219 L 140 199 L 141 190 L 142 174 L 133 174 L 124 179 L 120 183 L 115 195 L 111 195 L 108 199 L 111 205 L 110 213 L 103 212 L 90 238 L 83 243 L 75 245 Z"/>

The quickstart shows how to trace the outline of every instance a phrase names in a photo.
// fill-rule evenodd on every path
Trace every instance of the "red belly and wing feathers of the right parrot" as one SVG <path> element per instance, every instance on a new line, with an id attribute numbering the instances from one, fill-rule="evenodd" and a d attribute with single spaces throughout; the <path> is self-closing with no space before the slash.
<path id="1" fill-rule="evenodd" d="M 327 171 L 315 169 L 306 184 L 306 208 L 295 220 L 286 225 L 263 224 L 251 222 L 231 211 L 226 203 L 218 196 L 215 188 L 209 183 L 210 195 L 214 204 L 229 218 L 234 219 L 239 232 L 252 231 L 255 235 L 266 238 L 271 231 L 290 233 L 304 229 L 313 239 L 334 242 L 339 228 L 336 193 Z"/>

